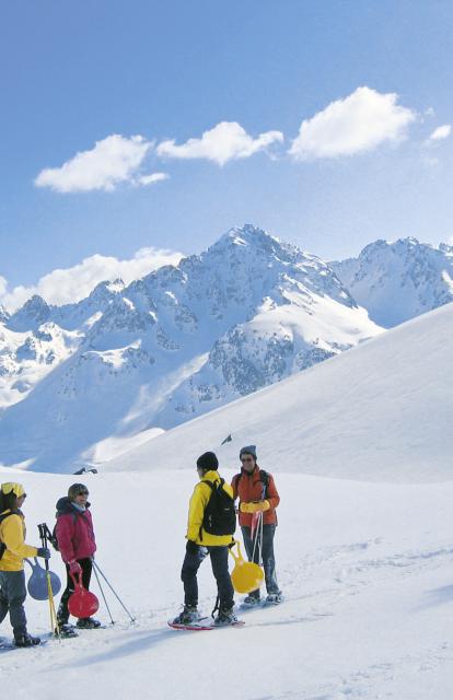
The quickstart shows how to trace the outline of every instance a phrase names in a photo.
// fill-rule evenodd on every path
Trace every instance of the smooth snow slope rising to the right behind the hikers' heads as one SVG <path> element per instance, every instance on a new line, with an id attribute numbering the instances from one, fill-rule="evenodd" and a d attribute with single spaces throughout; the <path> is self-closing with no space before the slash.
<path id="1" fill-rule="evenodd" d="M 453 479 L 453 304 L 161 434 L 105 468 L 221 464 L 251 442 L 286 471 L 379 481 Z M 232 441 L 221 445 L 226 435 Z"/>

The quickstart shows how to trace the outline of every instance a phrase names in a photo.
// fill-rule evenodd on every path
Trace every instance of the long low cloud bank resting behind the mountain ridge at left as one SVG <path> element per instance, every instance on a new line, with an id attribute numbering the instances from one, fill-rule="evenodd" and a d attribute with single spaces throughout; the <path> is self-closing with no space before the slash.
<path id="1" fill-rule="evenodd" d="M 177 265 L 182 257 L 182 253 L 151 247 L 140 248 L 129 260 L 93 255 L 74 267 L 53 270 L 34 287 L 15 287 L 11 291 L 0 277 L 0 304 L 15 311 L 33 294 L 39 294 L 49 304 L 70 304 L 88 296 L 100 282 L 121 278 L 129 284 L 163 265 Z"/>

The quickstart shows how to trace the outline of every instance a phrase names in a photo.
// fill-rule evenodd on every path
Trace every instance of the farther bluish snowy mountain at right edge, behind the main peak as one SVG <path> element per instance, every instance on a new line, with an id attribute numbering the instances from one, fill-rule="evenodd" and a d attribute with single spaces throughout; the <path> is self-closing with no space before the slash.
<path id="1" fill-rule="evenodd" d="M 332 262 L 370 318 L 391 328 L 453 301 L 453 247 L 416 238 L 376 241 L 358 258 Z"/>

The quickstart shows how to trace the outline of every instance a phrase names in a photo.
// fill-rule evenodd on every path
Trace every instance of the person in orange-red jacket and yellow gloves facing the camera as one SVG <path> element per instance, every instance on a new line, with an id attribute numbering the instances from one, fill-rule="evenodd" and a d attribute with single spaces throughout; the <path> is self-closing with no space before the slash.
<path id="1" fill-rule="evenodd" d="M 276 559 L 274 555 L 274 535 L 277 526 L 276 508 L 280 497 L 274 482 L 274 477 L 259 469 L 256 462 L 256 445 L 247 445 L 240 452 L 242 463 L 241 474 L 233 477 L 234 499 L 239 498 L 239 521 L 244 538 L 248 561 L 259 563 L 262 549 L 263 568 L 265 572 L 267 598 L 266 603 L 278 604 L 282 600 L 276 575 Z M 253 521 L 256 513 L 263 513 L 263 528 L 259 526 L 252 534 Z M 254 551 L 255 550 L 255 551 Z M 245 605 L 258 605 L 259 588 L 252 591 L 244 599 Z"/>

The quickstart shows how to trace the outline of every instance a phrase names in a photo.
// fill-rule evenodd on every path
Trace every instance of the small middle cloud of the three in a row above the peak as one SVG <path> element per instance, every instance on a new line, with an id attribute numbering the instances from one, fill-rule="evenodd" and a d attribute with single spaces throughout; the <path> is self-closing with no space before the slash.
<path id="1" fill-rule="evenodd" d="M 164 158 L 206 159 L 224 165 L 228 161 L 249 158 L 282 141 L 281 131 L 266 131 L 254 139 L 237 121 L 221 121 L 205 131 L 200 139 L 189 139 L 182 145 L 176 145 L 174 140 L 162 141 L 156 153 Z"/>

